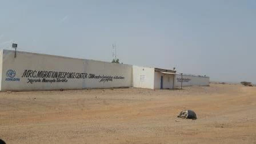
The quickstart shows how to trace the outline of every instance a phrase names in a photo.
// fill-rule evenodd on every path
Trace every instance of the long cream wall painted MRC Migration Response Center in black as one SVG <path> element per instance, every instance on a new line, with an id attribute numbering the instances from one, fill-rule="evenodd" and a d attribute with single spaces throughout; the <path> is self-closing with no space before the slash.
<path id="1" fill-rule="evenodd" d="M 132 86 L 131 65 L 20 51 L 14 58 L 14 51 L 2 53 L 2 91 Z"/>

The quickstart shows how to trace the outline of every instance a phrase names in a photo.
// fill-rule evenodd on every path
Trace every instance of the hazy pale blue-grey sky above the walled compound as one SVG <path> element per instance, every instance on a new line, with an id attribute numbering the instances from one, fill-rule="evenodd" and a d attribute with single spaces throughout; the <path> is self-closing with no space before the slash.
<path id="1" fill-rule="evenodd" d="M 256 83 L 256 1 L 3 1 L 0 49 Z"/>

